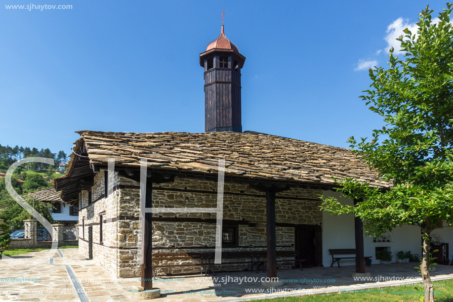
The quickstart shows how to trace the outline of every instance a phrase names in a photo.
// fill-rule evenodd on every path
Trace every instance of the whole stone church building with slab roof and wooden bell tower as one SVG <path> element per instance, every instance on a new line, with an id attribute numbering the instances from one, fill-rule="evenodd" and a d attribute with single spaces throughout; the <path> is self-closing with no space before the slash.
<path id="1" fill-rule="evenodd" d="M 330 249 L 357 249 L 359 260 L 371 257 L 371 264 L 377 263 L 379 249 L 394 255 L 399 250 L 419 253 L 417 227 L 403 226 L 373 240 L 363 236 L 362 224 L 353 216 L 320 211 L 320 195 L 339 196 L 331 190 L 332 177 L 353 177 L 382 189 L 390 185 L 350 150 L 243 131 L 245 60 L 226 38 L 223 25 L 220 36 L 200 54 L 205 132 L 77 132 L 81 137 L 69 169 L 54 185 L 64 202 L 80 209 L 80 252 L 115 276 L 138 277 L 142 265 L 137 251 L 143 239 L 145 275 L 151 267 L 157 275 L 200 273 L 206 268 L 202 263 L 213 262 L 216 214 L 153 213 L 146 220 L 152 230 L 140 238 L 140 161 L 147 160 L 147 208 L 209 209 L 217 206 L 218 163 L 224 159 L 222 263 L 208 269 L 246 270 L 264 264 L 269 276 L 277 268 L 297 266 L 298 260 L 306 267 L 329 266 Z M 109 159 L 114 160 L 111 174 Z M 355 236 L 357 230 L 360 236 Z M 438 229 L 436 236 L 448 253 L 451 230 Z"/>

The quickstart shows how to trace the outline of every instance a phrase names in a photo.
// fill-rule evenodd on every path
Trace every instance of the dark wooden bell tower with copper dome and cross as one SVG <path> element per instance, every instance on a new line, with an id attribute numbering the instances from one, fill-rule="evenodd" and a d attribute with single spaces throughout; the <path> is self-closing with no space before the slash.
<path id="1" fill-rule="evenodd" d="M 205 131 L 242 132 L 241 69 L 246 57 L 223 33 L 200 54 L 205 68 Z"/>

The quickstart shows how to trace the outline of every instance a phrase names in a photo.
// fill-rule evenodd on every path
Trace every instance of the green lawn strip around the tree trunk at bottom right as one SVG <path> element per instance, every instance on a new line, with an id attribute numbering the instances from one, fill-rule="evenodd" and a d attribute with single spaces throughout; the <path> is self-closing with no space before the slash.
<path id="1" fill-rule="evenodd" d="M 434 281 L 441 286 L 434 288 L 436 302 L 453 302 L 453 279 Z M 442 285 L 443 284 L 443 285 Z M 420 284 L 418 284 L 420 285 Z M 288 297 L 277 299 L 254 300 L 256 302 L 419 302 L 423 298 L 423 287 L 409 284 L 405 286 L 382 287 L 366 289 L 360 293 L 334 293 L 307 295 L 303 297 Z M 363 290 L 364 291 L 364 290 Z M 437 293 L 437 292 L 440 293 Z M 417 295 L 417 292 L 419 293 Z M 423 300 L 422 300 L 423 301 Z"/>

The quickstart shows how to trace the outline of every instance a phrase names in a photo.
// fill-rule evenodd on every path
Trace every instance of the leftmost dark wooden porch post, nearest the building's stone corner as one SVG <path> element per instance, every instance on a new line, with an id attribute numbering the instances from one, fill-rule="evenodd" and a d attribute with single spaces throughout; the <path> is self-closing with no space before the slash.
<path id="1" fill-rule="evenodd" d="M 153 183 L 147 181 L 146 183 L 146 198 L 145 208 L 152 207 L 152 194 L 153 194 Z M 145 242 L 145 249 L 142 251 L 143 264 L 142 264 L 142 287 L 144 290 L 153 289 L 153 223 L 152 213 L 145 213 L 145 225 L 143 227 L 143 240 Z"/>

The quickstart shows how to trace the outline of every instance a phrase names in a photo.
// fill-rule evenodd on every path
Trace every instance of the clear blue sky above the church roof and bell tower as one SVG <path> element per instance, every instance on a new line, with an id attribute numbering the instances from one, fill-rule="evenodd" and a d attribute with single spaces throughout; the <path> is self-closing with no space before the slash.
<path id="1" fill-rule="evenodd" d="M 72 9 L 6 9 L 9 4 Z M 1 145 L 70 151 L 76 130 L 204 131 L 199 54 L 220 33 L 247 57 L 244 130 L 348 147 L 379 116 L 368 68 L 426 1 L 5 0 Z M 435 14 L 445 7 L 431 1 Z M 396 44 L 395 44 L 396 45 Z"/>

